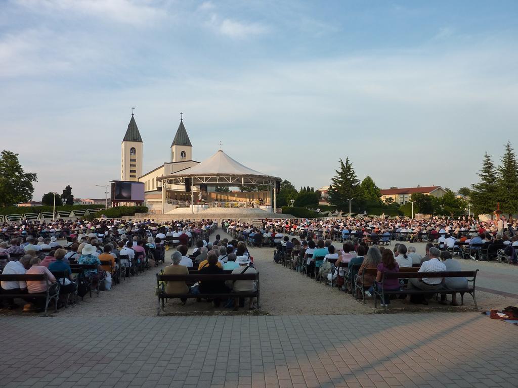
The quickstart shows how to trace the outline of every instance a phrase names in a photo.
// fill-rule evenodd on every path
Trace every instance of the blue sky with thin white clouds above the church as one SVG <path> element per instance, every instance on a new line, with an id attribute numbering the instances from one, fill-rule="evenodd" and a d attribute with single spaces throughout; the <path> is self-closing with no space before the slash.
<path id="1" fill-rule="evenodd" d="M 197 161 L 455 190 L 518 147 L 517 38 L 516 1 L 0 0 L 0 150 L 104 198 L 134 106 L 144 172 L 183 112 Z"/>

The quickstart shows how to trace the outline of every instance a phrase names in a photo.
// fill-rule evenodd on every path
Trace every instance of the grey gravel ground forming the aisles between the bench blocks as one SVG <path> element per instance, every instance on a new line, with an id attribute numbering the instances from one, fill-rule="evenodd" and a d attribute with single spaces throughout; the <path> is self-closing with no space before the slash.
<path id="1" fill-rule="evenodd" d="M 211 235 L 221 234 L 222 238 L 229 237 L 221 229 Z M 336 244 L 339 246 L 340 244 Z M 424 253 L 424 244 L 413 244 L 418 252 Z M 174 250 L 166 253 L 170 264 L 170 255 Z M 473 311 L 474 304 L 469 295 L 465 295 L 464 307 L 443 306 L 431 301 L 428 306 L 404 305 L 400 301 L 393 301 L 390 309 L 375 309 L 374 302 L 368 300 L 364 305 L 349 294 L 338 289 L 331 289 L 306 276 L 284 268 L 273 260 L 273 248 L 250 248 L 254 263 L 260 272 L 261 280 L 261 311 L 259 314 L 269 315 L 337 315 L 337 314 L 380 314 L 383 312 L 418 312 L 418 311 Z M 84 297 L 76 305 L 61 309 L 59 316 L 91 317 L 91 316 L 154 316 L 156 315 L 157 299 L 155 296 L 155 274 L 163 268 L 155 267 L 145 273 L 122 281 L 111 291 L 102 291 L 99 296 Z M 504 308 L 516 304 L 516 300 L 477 291 L 479 309 Z M 460 296 L 457 296 L 460 302 Z M 30 312 L 21 312 L 21 309 L 9 311 L 0 310 L 0 315 L 36 315 Z M 223 308 L 213 308 L 207 302 L 197 303 L 189 299 L 185 306 L 179 300 L 170 300 L 166 304 L 165 314 L 161 315 L 239 315 L 257 314 L 256 311 L 241 309 L 232 311 Z M 40 316 L 40 314 L 37 314 Z"/>

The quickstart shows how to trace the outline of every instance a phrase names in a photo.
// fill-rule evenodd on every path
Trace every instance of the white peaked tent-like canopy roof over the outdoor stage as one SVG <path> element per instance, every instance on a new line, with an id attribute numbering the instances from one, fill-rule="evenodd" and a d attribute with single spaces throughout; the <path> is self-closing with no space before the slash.
<path id="1" fill-rule="evenodd" d="M 257 175 L 257 176 L 269 176 L 262 172 L 252 170 L 246 166 L 243 166 L 237 160 L 232 159 L 230 156 L 225 154 L 223 151 L 218 151 L 210 158 L 204 160 L 198 165 L 179 171 L 175 174 L 169 175 L 170 177 L 175 176 L 193 176 L 193 175 Z"/>

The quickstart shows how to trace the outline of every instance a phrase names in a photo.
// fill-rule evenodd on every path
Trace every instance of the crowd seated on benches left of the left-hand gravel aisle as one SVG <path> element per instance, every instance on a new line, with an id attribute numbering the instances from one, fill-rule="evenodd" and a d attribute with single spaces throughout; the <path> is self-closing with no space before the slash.
<path id="1" fill-rule="evenodd" d="M 30 294 L 47 291 L 49 287 L 49 293 L 52 293 L 59 282 L 57 307 L 61 308 L 65 300 L 68 302 L 67 294 L 78 293 L 80 277 L 84 277 L 92 289 L 110 289 L 112 282 L 120 283 L 121 276 L 136 275 L 137 266 L 141 263 L 149 265 L 148 258 L 164 261 L 166 236 L 161 238 L 161 233 L 181 229 L 189 236 L 189 243 L 192 237 L 206 237 L 216 225 L 211 220 L 175 220 L 160 224 L 153 220 L 130 222 L 115 219 L 4 222 L 0 238 L 7 240 L 0 240 L 0 274 L 45 274 L 49 285 L 2 281 L 0 293 L 26 293 L 27 297 L 22 300 L 26 302 L 25 309 L 39 311 L 44 308 L 42 304 L 46 300 L 36 299 Z M 186 246 L 182 252 L 185 256 Z M 188 257 L 184 259 L 190 262 Z M 73 271 L 70 265 L 87 266 L 87 269 Z M 122 274 L 121 269 L 125 270 Z M 54 274 L 63 274 L 64 271 L 68 275 L 56 279 Z M 70 303 L 75 303 L 75 300 L 70 299 Z M 13 299 L 2 298 L 0 302 L 7 304 L 9 309 L 20 307 Z"/>

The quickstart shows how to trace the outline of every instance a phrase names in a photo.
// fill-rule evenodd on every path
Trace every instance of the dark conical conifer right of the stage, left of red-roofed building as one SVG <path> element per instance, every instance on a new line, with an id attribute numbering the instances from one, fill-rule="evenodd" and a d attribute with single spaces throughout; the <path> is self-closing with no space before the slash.
<path id="1" fill-rule="evenodd" d="M 340 169 L 335 172 L 336 176 L 332 178 L 328 191 L 329 203 L 335 205 L 338 210 L 349 210 L 348 199 L 354 198 L 354 201 L 351 202 L 359 207 L 363 203 L 363 198 L 359 196 L 361 187 L 349 157 L 346 158 L 345 163 L 340 159 Z"/>

